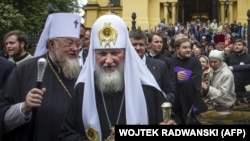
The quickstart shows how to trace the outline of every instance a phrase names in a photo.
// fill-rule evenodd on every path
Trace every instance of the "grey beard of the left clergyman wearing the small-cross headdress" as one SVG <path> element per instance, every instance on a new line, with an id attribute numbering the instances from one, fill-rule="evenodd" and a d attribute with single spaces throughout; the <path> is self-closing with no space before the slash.
<path id="1" fill-rule="evenodd" d="M 63 56 L 58 50 L 56 50 L 55 54 L 58 61 L 58 65 L 61 67 L 64 76 L 69 79 L 77 78 L 81 71 L 78 58 L 69 59 Z"/>

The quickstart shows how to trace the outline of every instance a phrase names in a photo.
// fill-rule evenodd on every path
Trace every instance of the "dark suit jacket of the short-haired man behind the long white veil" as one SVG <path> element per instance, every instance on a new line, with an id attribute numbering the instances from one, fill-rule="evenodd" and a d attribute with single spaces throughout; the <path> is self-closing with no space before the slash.
<path id="1" fill-rule="evenodd" d="M 171 80 L 172 76 L 168 72 L 167 65 L 161 60 L 149 57 L 146 57 L 146 65 L 155 77 L 155 80 L 161 89 L 166 93 L 167 100 L 169 102 L 173 102 L 175 97 L 175 83 Z"/>

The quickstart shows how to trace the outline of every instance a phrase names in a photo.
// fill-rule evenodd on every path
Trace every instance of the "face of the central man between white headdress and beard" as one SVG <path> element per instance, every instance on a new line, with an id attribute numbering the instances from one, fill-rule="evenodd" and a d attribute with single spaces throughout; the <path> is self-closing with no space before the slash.
<path id="1" fill-rule="evenodd" d="M 114 72 L 123 64 L 125 49 L 97 49 L 96 62 L 105 72 Z"/>

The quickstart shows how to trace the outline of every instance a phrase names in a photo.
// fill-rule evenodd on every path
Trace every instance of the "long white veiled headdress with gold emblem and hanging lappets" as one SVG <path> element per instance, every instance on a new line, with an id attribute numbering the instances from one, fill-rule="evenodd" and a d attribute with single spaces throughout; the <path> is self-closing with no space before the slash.
<path id="1" fill-rule="evenodd" d="M 105 28 L 111 29 L 111 38 L 104 37 Z M 127 124 L 148 124 L 147 105 L 142 84 L 153 86 L 160 91 L 161 89 L 151 72 L 135 52 L 124 21 L 114 14 L 103 15 L 93 24 L 90 37 L 89 53 L 77 80 L 77 83 L 85 83 L 82 109 L 82 119 L 85 129 L 90 126 L 98 131 L 99 140 L 102 140 L 94 89 L 95 49 L 101 48 L 125 48 L 124 84 L 126 122 Z M 108 39 L 111 39 L 109 43 Z"/>

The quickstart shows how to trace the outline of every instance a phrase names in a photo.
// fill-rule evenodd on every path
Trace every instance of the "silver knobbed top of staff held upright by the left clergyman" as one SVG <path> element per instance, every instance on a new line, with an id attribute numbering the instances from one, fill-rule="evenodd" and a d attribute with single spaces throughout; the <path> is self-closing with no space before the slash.
<path id="1" fill-rule="evenodd" d="M 47 66 L 47 61 L 46 61 L 45 58 L 40 58 L 37 61 L 37 83 L 36 83 L 36 87 L 38 89 L 42 88 L 43 75 L 44 75 L 44 71 L 45 71 L 46 66 Z"/>

